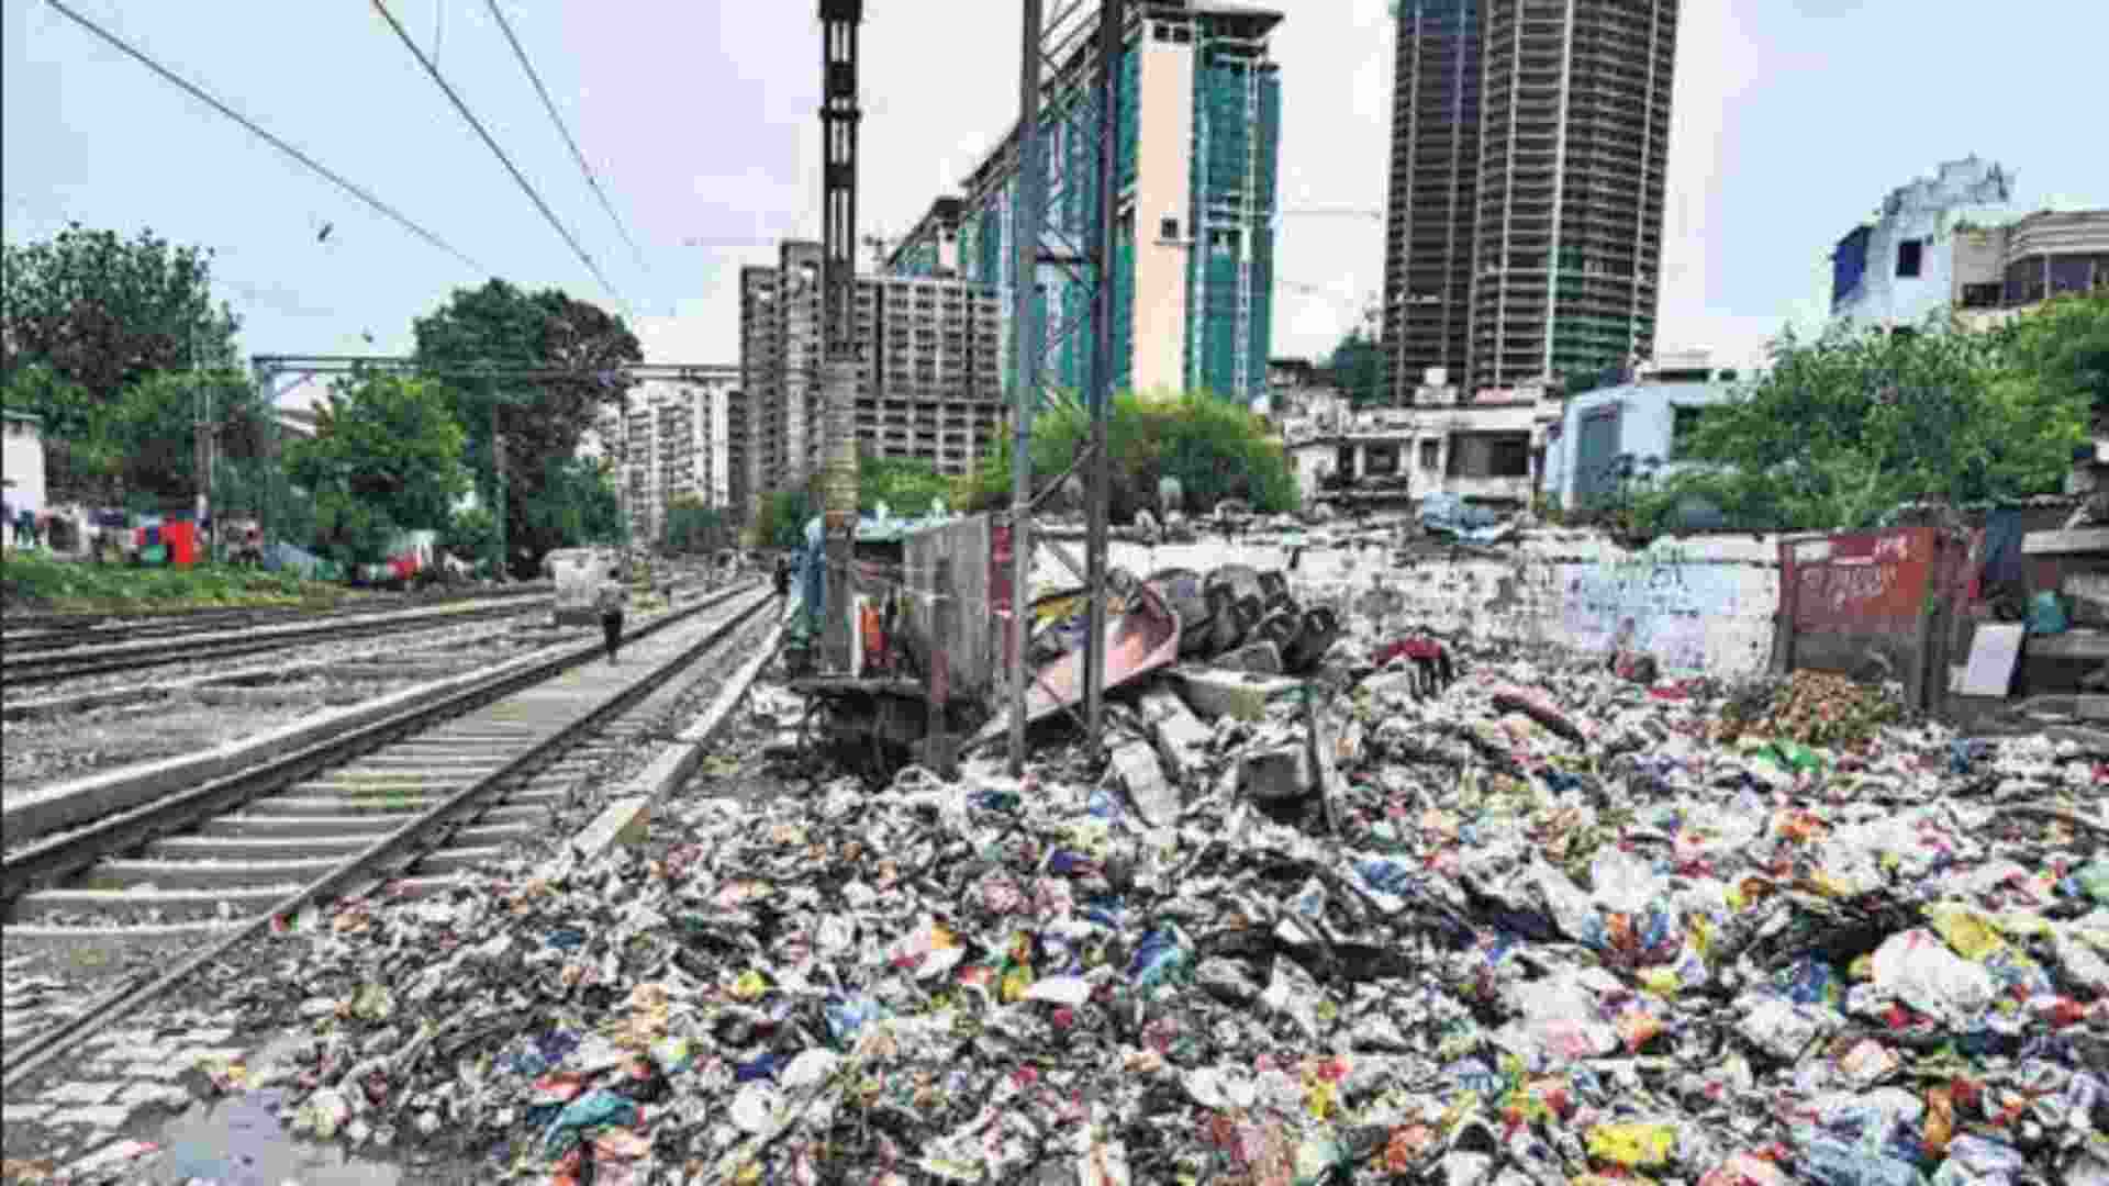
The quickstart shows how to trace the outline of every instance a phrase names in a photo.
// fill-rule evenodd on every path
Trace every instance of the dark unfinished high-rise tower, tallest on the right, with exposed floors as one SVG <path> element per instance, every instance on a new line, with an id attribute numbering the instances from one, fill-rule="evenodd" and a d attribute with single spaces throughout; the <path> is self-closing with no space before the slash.
<path id="1" fill-rule="evenodd" d="M 1653 352 L 1677 0 L 1396 0 L 1394 403 Z"/>

